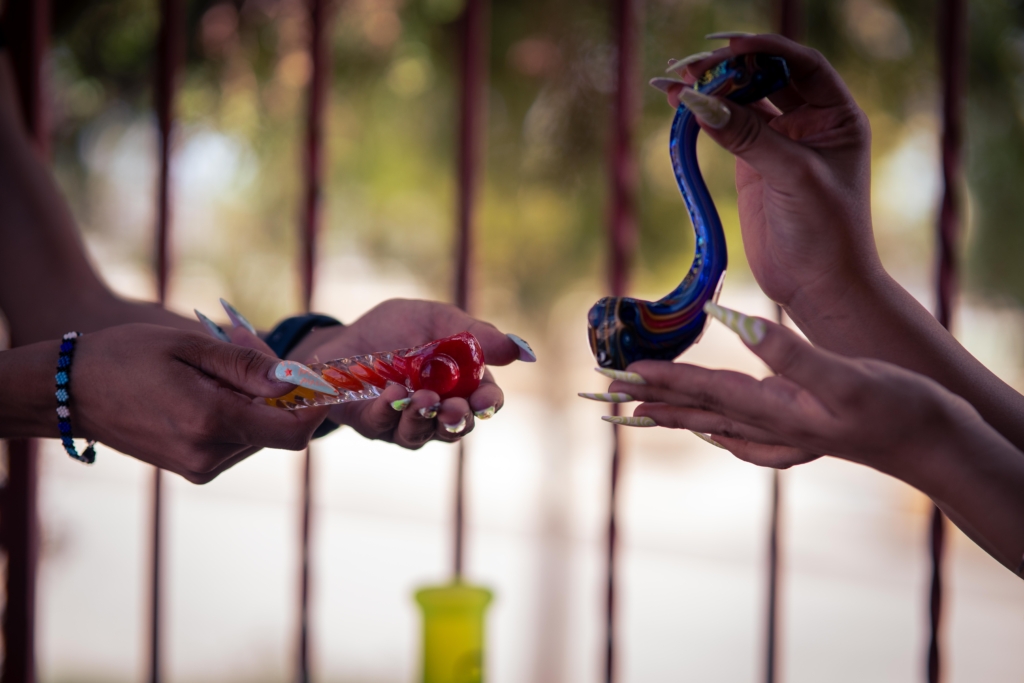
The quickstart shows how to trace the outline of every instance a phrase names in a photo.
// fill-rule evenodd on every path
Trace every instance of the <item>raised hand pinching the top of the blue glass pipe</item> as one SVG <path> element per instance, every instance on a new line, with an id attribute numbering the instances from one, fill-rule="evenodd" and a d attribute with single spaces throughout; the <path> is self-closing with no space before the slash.
<path id="1" fill-rule="evenodd" d="M 782 56 L 792 75 L 771 103 L 719 99 L 726 120 L 703 132 L 736 155 L 743 249 L 758 285 L 784 307 L 815 310 L 851 284 L 881 271 L 871 233 L 870 128 L 821 54 L 779 36 L 733 38 L 687 67 L 692 83 L 708 68 L 751 52 Z M 669 88 L 679 106 L 682 86 Z"/>

